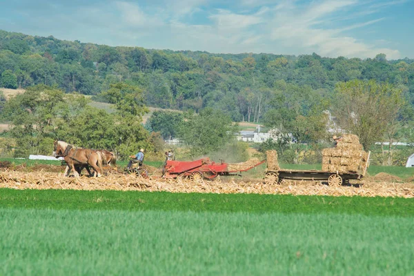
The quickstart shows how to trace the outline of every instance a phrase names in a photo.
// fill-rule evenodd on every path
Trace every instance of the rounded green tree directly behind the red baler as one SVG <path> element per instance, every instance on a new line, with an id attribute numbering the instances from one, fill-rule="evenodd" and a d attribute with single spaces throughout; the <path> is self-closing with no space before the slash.
<path id="1" fill-rule="evenodd" d="M 238 126 L 224 112 L 206 108 L 184 121 L 179 137 L 190 147 L 190 155 L 199 157 L 219 150 L 235 137 Z"/>

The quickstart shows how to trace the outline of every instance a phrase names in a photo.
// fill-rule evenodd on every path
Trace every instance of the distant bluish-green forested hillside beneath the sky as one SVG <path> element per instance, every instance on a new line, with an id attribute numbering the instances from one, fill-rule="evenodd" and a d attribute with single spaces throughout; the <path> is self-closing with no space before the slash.
<path id="1" fill-rule="evenodd" d="M 413 61 L 387 61 L 384 54 L 362 60 L 110 47 L 0 30 L 0 76 L 6 88 L 44 84 L 104 101 L 102 91 L 124 82 L 141 88 L 148 106 L 213 108 L 233 121 L 261 121 L 275 97 L 291 99 L 293 90 L 332 99 L 336 83 L 352 79 L 392 83 L 412 104 Z M 306 97 L 295 100 L 308 108 Z"/>

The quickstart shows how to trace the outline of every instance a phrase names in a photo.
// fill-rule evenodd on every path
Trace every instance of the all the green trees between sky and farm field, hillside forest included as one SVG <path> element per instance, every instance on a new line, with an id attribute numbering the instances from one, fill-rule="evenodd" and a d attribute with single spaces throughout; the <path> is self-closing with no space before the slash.
<path id="1" fill-rule="evenodd" d="M 46 151 L 57 137 L 125 156 L 139 147 L 159 155 L 163 139 L 179 137 L 197 157 L 232 143 L 243 148 L 228 134 L 237 132 L 232 121 L 250 121 L 278 132 L 263 151 L 277 148 L 295 161 L 301 145 L 328 141 L 326 111 L 366 149 L 414 141 L 413 61 L 149 50 L 0 30 L 0 86 L 27 88 L 10 103 L 0 97 L 0 108 L 19 155 Z M 90 108 L 82 95 L 116 112 Z M 146 106 L 182 112 L 154 112 L 143 126 Z M 381 153 L 383 164 L 393 164 L 395 148 Z"/>

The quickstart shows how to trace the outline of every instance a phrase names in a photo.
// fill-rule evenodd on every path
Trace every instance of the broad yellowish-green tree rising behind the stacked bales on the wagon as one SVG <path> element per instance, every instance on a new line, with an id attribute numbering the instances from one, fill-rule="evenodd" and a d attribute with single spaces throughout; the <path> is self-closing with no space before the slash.
<path id="1" fill-rule="evenodd" d="M 333 114 L 341 128 L 359 136 L 365 150 L 391 131 L 404 105 L 402 90 L 389 83 L 354 80 L 337 83 L 336 90 Z"/>

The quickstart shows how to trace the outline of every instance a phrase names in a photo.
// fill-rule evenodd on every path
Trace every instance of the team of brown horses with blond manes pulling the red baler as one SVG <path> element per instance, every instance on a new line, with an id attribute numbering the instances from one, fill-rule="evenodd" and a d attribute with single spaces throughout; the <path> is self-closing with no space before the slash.
<path id="1" fill-rule="evenodd" d="M 103 165 L 115 166 L 116 163 L 115 154 L 109 150 L 77 148 L 64 141 L 54 142 L 53 155 L 55 157 L 63 157 L 63 160 L 66 161 L 64 176 L 68 176 L 72 170 L 75 177 L 79 177 L 83 168 L 86 168 L 89 175 L 92 176 L 89 170 L 89 167 L 91 167 L 94 171 L 93 175 L 95 177 L 101 177 L 103 175 Z"/>

